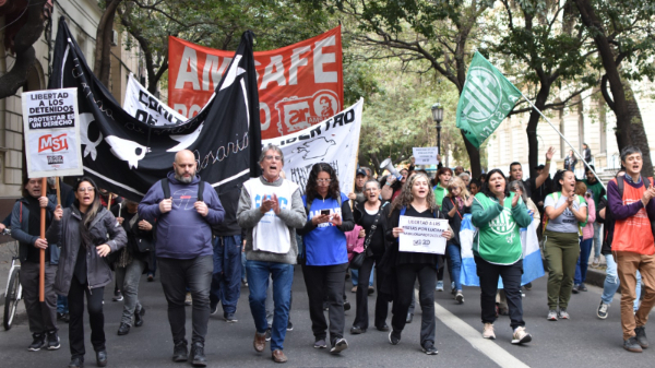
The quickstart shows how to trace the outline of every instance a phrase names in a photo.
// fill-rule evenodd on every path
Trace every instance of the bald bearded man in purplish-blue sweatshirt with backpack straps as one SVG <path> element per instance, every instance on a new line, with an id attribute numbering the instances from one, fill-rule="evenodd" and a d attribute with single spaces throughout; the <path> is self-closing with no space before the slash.
<path id="1" fill-rule="evenodd" d="M 155 248 L 162 287 L 168 301 L 168 322 L 175 344 L 172 360 L 189 359 L 186 339 L 184 296 L 193 297 L 191 359 L 205 367 L 204 339 L 210 321 L 210 287 L 214 271 L 212 226 L 223 222 L 218 194 L 195 174 L 195 156 L 183 150 L 175 155 L 174 170 L 147 191 L 139 213 L 156 219 Z"/>

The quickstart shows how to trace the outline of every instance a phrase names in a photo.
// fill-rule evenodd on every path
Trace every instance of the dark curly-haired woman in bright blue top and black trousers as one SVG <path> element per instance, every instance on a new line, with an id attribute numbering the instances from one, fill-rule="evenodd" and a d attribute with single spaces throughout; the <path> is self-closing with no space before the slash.
<path id="1" fill-rule="evenodd" d="M 307 224 L 298 229 L 305 245 L 302 275 L 309 297 L 309 317 L 314 347 L 325 348 L 327 322 L 323 300 L 330 308 L 330 353 L 348 348 L 344 339 L 344 287 L 348 269 L 345 232 L 355 227 L 348 197 L 340 191 L 336 173 L 329 164 L 314 164 L 309 173 L 302 202 Z M 362 284 L 367 285 L 368 280 Z M 366 289 L 366 288 L 365 288 Z"/>

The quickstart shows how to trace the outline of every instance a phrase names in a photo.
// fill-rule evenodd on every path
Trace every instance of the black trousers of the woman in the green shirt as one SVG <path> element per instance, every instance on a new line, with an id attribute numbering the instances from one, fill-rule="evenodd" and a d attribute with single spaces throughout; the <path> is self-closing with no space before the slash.
<path id="1" fill-rule="evenodd" d="M 477 275 L 480 277 L 480 306 L 483 309 L 483 323 L 496 321 L 496 293 L 498 292 L 498 277 L 502 277 L 508 308 L 510 309 L 510 325 L 516 329 L 525 325 L 523 321 L 523 301 L 521 300 L 521 275 L 523 274 L 523 260 L 509 265 L 492 264 L 476 257 Z"/>

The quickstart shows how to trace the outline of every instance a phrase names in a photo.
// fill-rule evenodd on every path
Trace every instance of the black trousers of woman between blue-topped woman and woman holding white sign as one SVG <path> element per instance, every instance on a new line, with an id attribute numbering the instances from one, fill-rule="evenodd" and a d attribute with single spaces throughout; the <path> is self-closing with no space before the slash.
<path id="1" fill-rule="evenodd" d="M 355 314 L 355 321 L 353 322 L 354 327 L 360 327 L 361 329 L 368 329 L 368 285 L 371 272 L 373 271 L 373 264 L 379 263 L 379 260 L 376 261 L 373 257 L 369 257 L 364 260 L 364 264 L 359 269 L 358 272 L 358 285 L 357 287 L 357 312 Z M 378 272 L 378 283 L 376 284 L 378 288 L 378 298 L 376 300 L 376 320 L 374 325 L 377 328 L 381 328 L 384 325 L 386 321 L 386 314 L 389 313 L 389 302 L 382 297 L 380 293 L 380 272 Z"/>

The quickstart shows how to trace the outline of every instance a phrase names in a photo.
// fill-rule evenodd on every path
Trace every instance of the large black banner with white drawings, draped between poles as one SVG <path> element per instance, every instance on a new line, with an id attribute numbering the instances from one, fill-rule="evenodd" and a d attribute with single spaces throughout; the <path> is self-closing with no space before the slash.
<path id="1" fill-rule="evenodd" d="M 215 98 L 200 114 L 155 126 L 122 109 L 88 68 L 62 17 L 48 87 L 78 88 L 84 174 L 136 201 L 172 169 L 176 152 L 184 149 L 193 152 L 198 173 L 219 194 L 258 176 L 261 126 L 252 41 L 252 33 L 243 33 Z"/>

